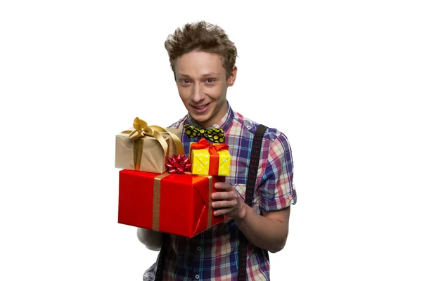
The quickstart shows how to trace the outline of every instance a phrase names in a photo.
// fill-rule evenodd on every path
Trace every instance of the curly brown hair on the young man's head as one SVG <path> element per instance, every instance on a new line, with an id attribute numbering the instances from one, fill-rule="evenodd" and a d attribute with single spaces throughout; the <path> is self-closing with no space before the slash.
<path id="1" fill-rule="evenodd" d="M 182 29 L 177 28 L 173 34 L 167 37 L 164 46 L 169 55 L 173 72 L 175 60 L 191 51 L 219 54 L 226 70 L 226 78 L 229 78 L 236 63 L 237 49 L 229 40 L 229 36 L 218 25 L 212 25 L 205 21 L 190 22 Z"/>

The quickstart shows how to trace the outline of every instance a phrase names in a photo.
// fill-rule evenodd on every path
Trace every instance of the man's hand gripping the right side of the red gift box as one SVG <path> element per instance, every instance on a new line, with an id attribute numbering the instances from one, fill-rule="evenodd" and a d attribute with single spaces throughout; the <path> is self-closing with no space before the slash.
<path id="1" fill-rule="evenodd" d="M 230 183 L 215 183 L 217 192 L 212 193 L 212 208 L 215 216 L 226 215 L 230 218 L 243 218 L 245 204 L 238 196 L 237 190 Z"/>

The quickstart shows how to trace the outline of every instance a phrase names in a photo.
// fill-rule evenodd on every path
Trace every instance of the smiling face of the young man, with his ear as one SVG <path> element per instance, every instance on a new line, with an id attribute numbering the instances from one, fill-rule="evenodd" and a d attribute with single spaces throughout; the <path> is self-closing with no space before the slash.
<path id="1" fill-rule="evenodd" d="M 179 96 L 191 117 L 204 128 L 226 114 L 227 87 L 234 84 L 236 67 L 226 79 L 218 54 L 192 51 L 177 58 L 175 77 Z"/>

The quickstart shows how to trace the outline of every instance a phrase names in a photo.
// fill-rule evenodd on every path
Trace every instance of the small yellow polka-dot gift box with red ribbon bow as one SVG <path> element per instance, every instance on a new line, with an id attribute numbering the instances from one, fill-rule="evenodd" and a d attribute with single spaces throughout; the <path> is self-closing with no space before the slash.
<path id="1" fill-rule="evenodd" d="M 191 143 L 189 150 L 193 175 L 229 176 L 229 145 L 209 143 L 205 138 L 201 138 L 198 143 Z"/>

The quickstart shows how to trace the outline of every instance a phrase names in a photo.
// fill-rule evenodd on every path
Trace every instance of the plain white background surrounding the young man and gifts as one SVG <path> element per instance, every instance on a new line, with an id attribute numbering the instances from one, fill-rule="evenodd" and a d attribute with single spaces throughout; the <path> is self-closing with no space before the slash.
<path id="1" fill-rule="evenodd" d="M 115 134 L 186 113 L 163 43 L 194 20 L 236 43 L 234 110 L 292 146 L 271 280 L 422 279 L 421 6 L 275 3 L 1 2 L 0 280 L 141 280 L 157 252 L 117 223 Z"/>

